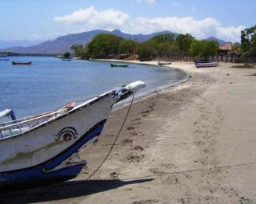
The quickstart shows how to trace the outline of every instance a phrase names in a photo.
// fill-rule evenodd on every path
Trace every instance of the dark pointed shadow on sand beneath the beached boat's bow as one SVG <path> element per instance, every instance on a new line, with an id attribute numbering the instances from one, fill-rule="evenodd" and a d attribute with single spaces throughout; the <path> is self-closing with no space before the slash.
<path id="1" fill-rule="evenodd" d="M 0 193 L 3 203 L 31 203 L 76 198 L 154 179 L 68 181 L 28 190 Z"/>

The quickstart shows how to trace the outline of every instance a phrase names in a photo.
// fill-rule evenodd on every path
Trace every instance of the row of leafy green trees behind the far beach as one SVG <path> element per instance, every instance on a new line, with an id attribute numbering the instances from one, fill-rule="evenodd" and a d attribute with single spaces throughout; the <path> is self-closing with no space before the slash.
<path id="1" fill-rule="evenodd" d="M 256 26 L 244 29 L 241 32 L 241 44 L 234 45 L 238 50 L 248 57 L 256 57 Z M 219 49 L 217 41 L 197 40 L 189 33 L 160 34 L 148 41 L 138 42 L 118 37 L 112 33 L 100 33 L 87 45 L 72 45 L 76 57 L 106 58 L 110 55 L 138 55 L 138 59 L 154 59 L 166 53 L 179 53 L 192 57 L 206 58 L 214 56 Z"/>

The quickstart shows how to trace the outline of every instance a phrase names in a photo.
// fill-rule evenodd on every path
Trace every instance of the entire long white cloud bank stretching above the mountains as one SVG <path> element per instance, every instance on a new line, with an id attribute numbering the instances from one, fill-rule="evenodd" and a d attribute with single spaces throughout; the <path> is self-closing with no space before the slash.
<path id="1" fill-rule="evenodd" d="M 140 0 L 142 1 L 142 0 Z M 198 39 L 214 36 L 225 41 L 239 41 L 241 30 L 245 26 L 224 27 L 215 18 L 197 20 L 192 17 L 135 18 L 118 10 L 98 11 L 94 6 L 76 10 L 73 14 L 54 18 L 55 22 L 69 24 L 70 33 L 91 29 L 121 29 L 126 33 L 153 33 L 170 30 L 176 33 L 190 33 Z"/>

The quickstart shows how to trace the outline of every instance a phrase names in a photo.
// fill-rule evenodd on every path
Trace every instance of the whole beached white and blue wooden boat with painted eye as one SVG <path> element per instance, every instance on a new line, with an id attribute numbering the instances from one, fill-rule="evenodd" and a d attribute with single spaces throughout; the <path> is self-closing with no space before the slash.
<path id="1" fill-rule="evenodd" d="M 86 161 L 78 151 L 98 139 L 114 104 L 145 87 L 142 81 L 115 88 L 82 104 L 16 120 L 0 112 L 0 188 L 38 186 L 76 177 Z"/>

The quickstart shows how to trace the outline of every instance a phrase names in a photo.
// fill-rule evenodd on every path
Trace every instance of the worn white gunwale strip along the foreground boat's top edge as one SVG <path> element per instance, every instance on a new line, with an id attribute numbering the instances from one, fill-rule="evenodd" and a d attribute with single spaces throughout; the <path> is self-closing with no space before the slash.
<path id="1" fill-rule="evenodd" d="M 78 112 L 78 111 L 82 110 L 83 108 L 87 108 L 90 105 L 97 103 L 99 100 L 102 100 L 103 98 L 105 98 L 107 96 L 115 95 L 115 91 L 116 90 L 117 90 L 117 88 L 114 88 L 114 89 L 110 90 L 109 92 L 103 93 L 100 96 L 95 96 L 93 99 L 87 100 L 86 102 L 77 105 L 76 107 L 72 108 L 70 111 L 63 113 L 62 115 L 57 116 L 54 119 L 46 120 L 45 122 L 42 122 L 42 124 L 38 124 L 38 125 L 34 126 L 34 128 L 30 128 L 27 131 L 19 132 L 16 135 L 10 135 L 10 136 L 6 136 L 6 137 L 2 137 L 2 138 L 0 138 L 0 143 L 3 140 L 14 139 L 14 138 L 17 138 L 19 136 L 26 135 L 26 134 L 30 133 L 31 131 L 37 130 L 38 128 L 42 128 L 42 127 L 44 127 L 44 126 L 46 126 L 48 124 L 54 123 L 55 121 L 60 120 L 60 119 L 62 119 L 64 117 L 66 117 L 66 116 L 69 116 L 70 114 L 73 114 L 74 112 Z M 15 126 L 15 125 L 18 125 L 18 124 L 13 124 L 13 125 Z"/>

